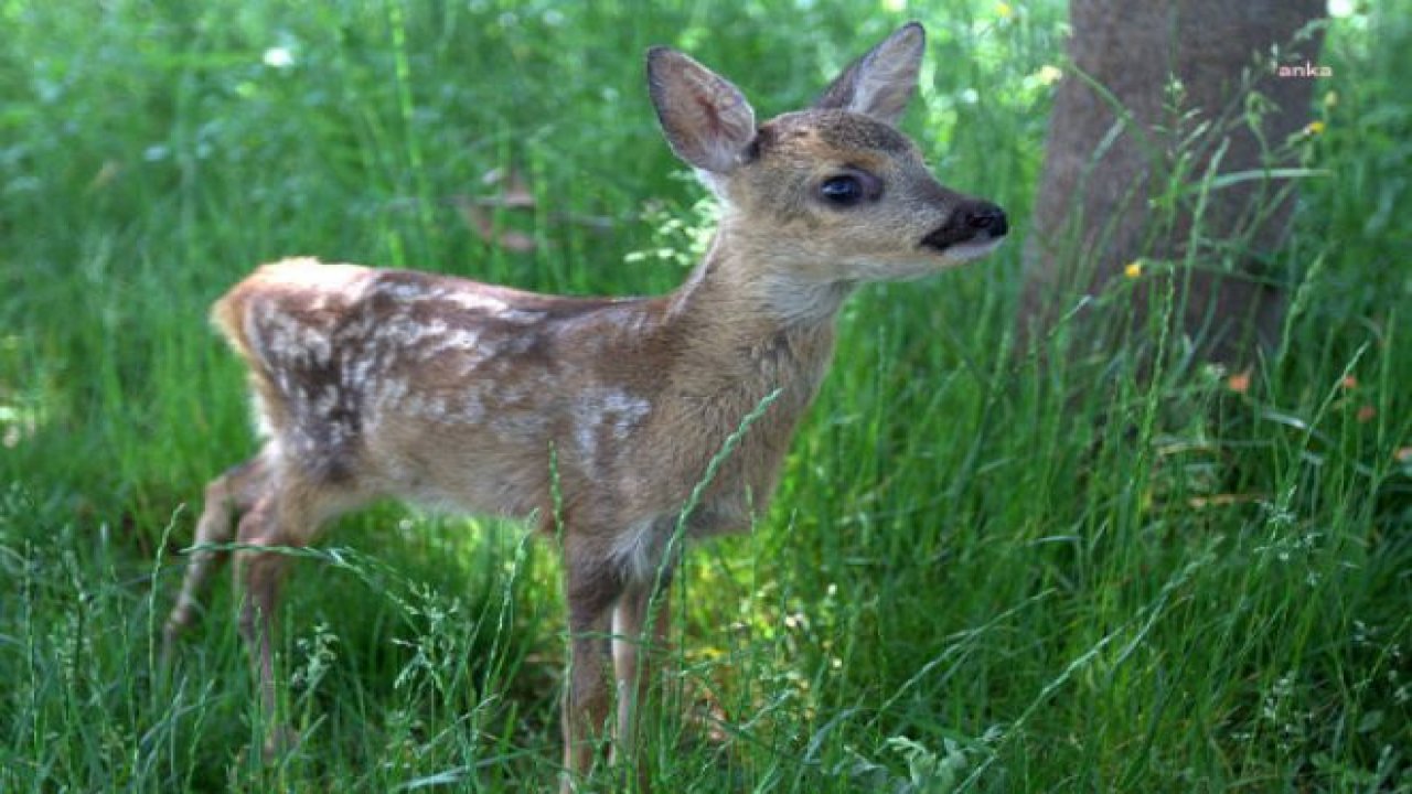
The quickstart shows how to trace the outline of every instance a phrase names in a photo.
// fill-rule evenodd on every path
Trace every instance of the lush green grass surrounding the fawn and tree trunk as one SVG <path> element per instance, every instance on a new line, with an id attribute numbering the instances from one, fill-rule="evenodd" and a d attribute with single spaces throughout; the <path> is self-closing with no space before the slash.
<path id="1" fill-rule="evenodd" d="M 559 571 L 510 526 L 383 507 L 298 564 L 282 764 L 247 750 L 227 585 L 155 664 L 202 485 L 253 449 L 203 315 L 297 253 L 671 288 L 702 191 L 641 52 L 772 114 L 908 17 L 798 6 L 0 0 L 0 791 L 552 786 Z M 675 586 L 658 788 L 1412 790 L 1412 7 L 1333 25 L 1337 102 L 1299 143 L 1326 177 L 1278 263 L 1296 311 L 1241 393 L 1058 363 L 1069 326 L 1014 349 L 1063 8 L 1012 6 L 911 14 L 905 127 L 1017 239 L 849 304 L 775 509 Z M 462 213 L 496 170 L 535 206 L 491 220 L 534 250 Z"/>

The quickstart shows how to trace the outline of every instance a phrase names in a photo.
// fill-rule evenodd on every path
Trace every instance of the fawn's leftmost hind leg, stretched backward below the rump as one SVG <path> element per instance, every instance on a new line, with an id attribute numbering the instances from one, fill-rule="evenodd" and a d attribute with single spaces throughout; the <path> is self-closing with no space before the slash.
<path id="1" fill-rule="evenodd" d="M 176 605 L 167 617 L 162 632 L 162 658 L 169 660 L 176 639 L 189 629 L 202 612 L 202 600 L 210 585 L 210 574 L 230 555 L 229 551 L 210 548 L 227 544 L 234 537 L 234 521 L 249 513 L 260 494 L 268 486 L 268 462 L 256 456 L 210 480 L 206 486 L 206 503 L 196 523 L 196 537 L 192 543 L 191 562 L 182 579 Z M 234 513 L 234 516 L 232 514 Z"/>

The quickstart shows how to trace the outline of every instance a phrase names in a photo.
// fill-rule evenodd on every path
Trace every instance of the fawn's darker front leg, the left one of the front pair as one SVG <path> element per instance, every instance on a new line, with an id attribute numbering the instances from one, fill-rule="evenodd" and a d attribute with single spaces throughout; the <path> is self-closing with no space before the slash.
<path id="1" fill-rule="evenodd" d="M 569 544 L 566 544 L 568 547 Z M 597 737 L 609 719 L 609 622 L 623 591 L 607 564 L 566 548 L 569 600 L 569 689 L 563 698 L 563 778 L 561 793 L 573 791 L 589 773 Z"/>

